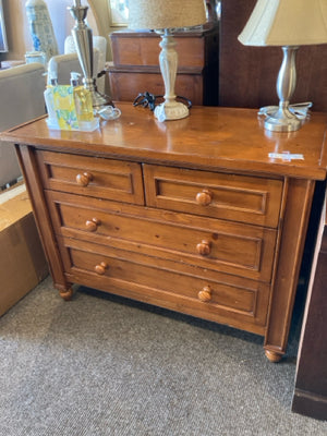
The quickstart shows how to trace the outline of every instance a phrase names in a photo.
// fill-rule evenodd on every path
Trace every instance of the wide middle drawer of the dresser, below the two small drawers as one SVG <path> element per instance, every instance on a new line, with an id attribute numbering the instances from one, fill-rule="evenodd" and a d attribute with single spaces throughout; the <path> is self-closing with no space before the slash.
<path id="1" fill-rule="evenodd" d="M 172 253 L 183 262 L 269 282 L 276 231 L 237 222 L 121 205 L 47 192 L 58 234 L 116 244 L 138 251 L 148 246 L 157 256 Z M 207 243 L 208 253 L 201 244 Z"/>

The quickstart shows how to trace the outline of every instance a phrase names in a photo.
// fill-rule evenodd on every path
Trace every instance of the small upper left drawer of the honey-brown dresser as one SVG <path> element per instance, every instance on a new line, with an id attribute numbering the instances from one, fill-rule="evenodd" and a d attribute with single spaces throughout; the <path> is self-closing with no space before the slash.
<path id="1" fill-rule="evenodd" d="M 138 164 L 44 150 L 36 152 L 36 155 L 47 189 L 144 204 Z"/>

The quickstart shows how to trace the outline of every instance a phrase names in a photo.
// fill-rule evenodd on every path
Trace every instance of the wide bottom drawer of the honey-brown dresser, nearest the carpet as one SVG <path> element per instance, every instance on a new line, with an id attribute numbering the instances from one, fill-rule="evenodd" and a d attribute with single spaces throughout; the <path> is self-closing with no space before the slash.
<path id="1" fill-rule="evenodd" d="M 269 286 L 171 269 L 171 263 L 122 250 L 60 239 L 69 281 L 264 335 Z"/>

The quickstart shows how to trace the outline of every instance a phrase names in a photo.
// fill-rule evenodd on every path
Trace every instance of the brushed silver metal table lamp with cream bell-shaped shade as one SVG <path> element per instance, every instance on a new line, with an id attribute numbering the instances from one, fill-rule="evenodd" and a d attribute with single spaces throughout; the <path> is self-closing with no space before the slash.
<path id="1" fill-rule="evenodd" d="M 281 46 L 283 60 L 276 86 L 279 106 L 263 108 L 265 128 L 296 131 L 302 120 L 290 107 L 296 85 L 295 56 L 299 46 L 327 43 L 327 0 L 257 0 L 239 40 L 246 46 Z"/>

